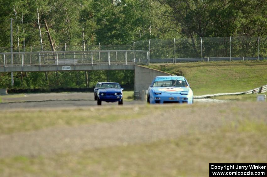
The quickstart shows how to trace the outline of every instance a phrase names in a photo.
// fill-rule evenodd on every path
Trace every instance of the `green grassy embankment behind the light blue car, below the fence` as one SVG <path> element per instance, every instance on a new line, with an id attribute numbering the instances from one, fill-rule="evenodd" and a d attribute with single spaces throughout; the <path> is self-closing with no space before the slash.
<path id="1" fill-rule="evenodd" d="M 155 64 L 150 68 L 183 75 L 194 95 L 240 92 L 267 85 L 267 62 Z"/>

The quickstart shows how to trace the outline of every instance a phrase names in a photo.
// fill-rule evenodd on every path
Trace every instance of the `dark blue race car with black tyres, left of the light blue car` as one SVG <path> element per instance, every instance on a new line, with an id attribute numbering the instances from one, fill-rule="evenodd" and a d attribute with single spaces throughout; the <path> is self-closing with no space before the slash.
<path id="1" fill-rule="evenodd" d="M 123 88 L 116 82 L 101 83 L 97 91 L 97 105 L 101 102 L 118 102 L 119 105 L 123 104 Z"/>

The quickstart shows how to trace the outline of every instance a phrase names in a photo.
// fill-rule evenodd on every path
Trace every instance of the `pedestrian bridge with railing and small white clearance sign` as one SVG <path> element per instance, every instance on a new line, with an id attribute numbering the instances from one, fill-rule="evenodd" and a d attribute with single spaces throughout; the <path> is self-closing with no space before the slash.
<path id="1" fill-rule="evenodd" d="M 145 50 L 91 50 L 0 53 L 0 72 L 134 70 L 149 63 Z"/>

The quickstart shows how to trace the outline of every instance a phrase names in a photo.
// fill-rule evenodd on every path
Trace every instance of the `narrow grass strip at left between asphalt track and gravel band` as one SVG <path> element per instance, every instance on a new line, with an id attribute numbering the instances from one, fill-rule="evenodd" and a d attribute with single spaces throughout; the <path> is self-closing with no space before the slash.
<path id="1" fill-rule="evenodd" d="M 119 113 L 118 113 L 119 109 Z M 159 108 L 160 112 L 163 108 Z M 149 114 L 153 107 L 133 111 L 133 107 L 91 107 L 79 109 L 40 109 L 0 111 L 0 135 L 33 131 L 55 126 L 75 126 L 134 119 Z M 129 112 L 131 112 L 129 114 Z"/>

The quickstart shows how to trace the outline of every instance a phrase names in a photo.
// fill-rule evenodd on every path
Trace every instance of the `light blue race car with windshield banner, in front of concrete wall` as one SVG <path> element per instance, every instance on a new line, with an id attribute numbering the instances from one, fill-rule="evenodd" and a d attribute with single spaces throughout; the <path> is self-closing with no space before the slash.
<path id="1" fill-rule="evenodd" d="M 193 91 L 183 76 L 157 76 L 147 93 L 148 103 L 193 103 Z"/>

